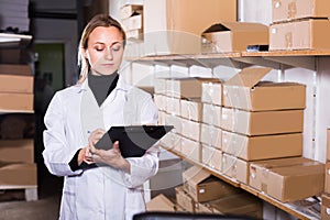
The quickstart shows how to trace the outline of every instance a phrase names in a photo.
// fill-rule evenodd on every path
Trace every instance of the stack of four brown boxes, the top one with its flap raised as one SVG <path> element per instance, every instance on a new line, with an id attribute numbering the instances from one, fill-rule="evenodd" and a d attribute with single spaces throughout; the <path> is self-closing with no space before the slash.
<path id="1" fill-rule="evenodd" d="M 270 68 L 245 68 L 223 84 L 222 172 L 249 183 L 252 161 L 300 156 L 306 87 L 265 82 Z"/>

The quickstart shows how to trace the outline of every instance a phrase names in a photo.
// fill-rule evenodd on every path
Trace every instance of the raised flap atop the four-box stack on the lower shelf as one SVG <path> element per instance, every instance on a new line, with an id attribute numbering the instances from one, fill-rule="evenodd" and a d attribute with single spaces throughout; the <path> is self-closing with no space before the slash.
<path id="1" fill-rule="evenodd" d="M 252 88 L 271 70 L 272 68 L 243 68 L 239 74 L 226 81 L 224 85 Z"/>

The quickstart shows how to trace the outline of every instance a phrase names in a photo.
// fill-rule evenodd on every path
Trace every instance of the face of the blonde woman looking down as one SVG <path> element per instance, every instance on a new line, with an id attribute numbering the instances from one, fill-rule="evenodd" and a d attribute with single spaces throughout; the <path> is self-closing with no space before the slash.
<path id="1" fill-rule="evenodd" d="M 123 38 L 114 26 L 98 26 L 88 37 L 85 57 L 88 59 L 91 74 L 111 75 L 121 65 Z"/>

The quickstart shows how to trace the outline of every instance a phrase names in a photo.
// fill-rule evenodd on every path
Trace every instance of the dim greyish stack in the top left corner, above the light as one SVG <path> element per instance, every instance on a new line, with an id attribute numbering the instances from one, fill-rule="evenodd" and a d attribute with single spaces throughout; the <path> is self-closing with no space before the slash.
<path id="1" fill-rule="evenodd" d="M 29 0 L 0 1 L 0 30 L 15 33 L 29 32 Z"/>

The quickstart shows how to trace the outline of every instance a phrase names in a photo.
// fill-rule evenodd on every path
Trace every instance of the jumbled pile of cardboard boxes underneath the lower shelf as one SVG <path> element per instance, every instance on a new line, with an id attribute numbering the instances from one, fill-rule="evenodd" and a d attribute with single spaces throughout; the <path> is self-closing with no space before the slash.
<path id="1" fill-rule="evenodd" d="M 180 210 L 262 219 L 260 199 L 213 177 L 200 167 L 188 168 L 184 172 L 183 179 L 184 185 L 175 188 Z"/>

